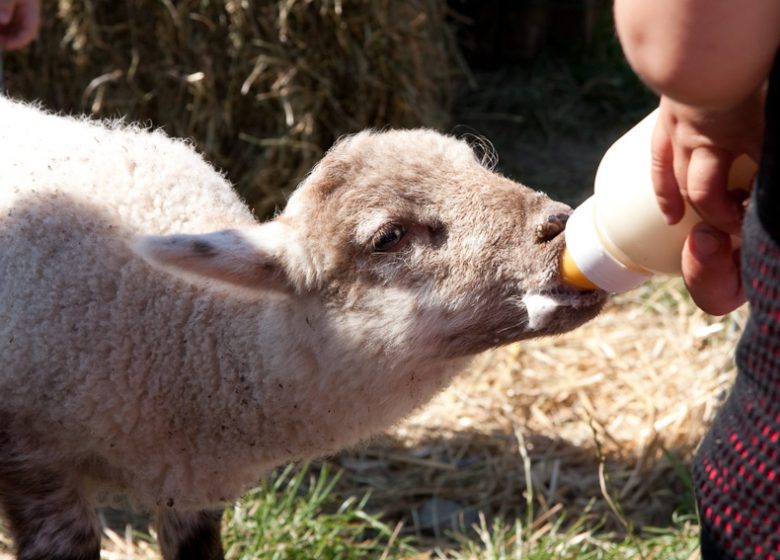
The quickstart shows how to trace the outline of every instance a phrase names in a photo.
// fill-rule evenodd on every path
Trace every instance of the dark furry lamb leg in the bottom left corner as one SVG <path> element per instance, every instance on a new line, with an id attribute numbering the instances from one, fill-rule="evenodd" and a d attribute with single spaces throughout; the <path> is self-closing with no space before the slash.
<path id="1" fill-rule="evenodd" d="M 0 457 L 0 504 L 18 560 L 97 560 L 100 528 L 78 478 Z"/>

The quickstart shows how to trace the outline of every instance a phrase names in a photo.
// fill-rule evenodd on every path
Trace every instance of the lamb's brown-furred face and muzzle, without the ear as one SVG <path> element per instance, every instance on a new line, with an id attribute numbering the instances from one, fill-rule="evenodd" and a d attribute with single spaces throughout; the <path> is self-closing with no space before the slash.
<path id="1" fill-rule="evenodd" d="M 560 284 L 569 212 L 486 169 L 465 142 L 411 130 L 342 140 L 282 218 L 302 230 L 333 305 L 372 308 L 360 303 L 372 288 L 407 290 L 436 316 L 442 352 L 460 355 L 564 332 L 599 311 L 603 294 Z M 377 251 L 374 236 L 393 227 L 402 241 Z M 527 294 L 558 300 L 543 325 L 529 328 Z"/>

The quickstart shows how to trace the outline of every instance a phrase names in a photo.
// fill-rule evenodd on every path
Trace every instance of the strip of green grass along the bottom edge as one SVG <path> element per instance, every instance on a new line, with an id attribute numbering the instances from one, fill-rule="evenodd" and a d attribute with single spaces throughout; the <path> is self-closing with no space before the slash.
<path id="1" fill-rule="evenodd" d="M 670 460 L 673 460 L 670 456 Z M 685 468 L 679 474 L 687 477 Z M 339 474 L 291 467 L 253 490 L 227 512 L 223 540 L 231 559 L 381 560 L 687 560 L 695 558 L 696 517 L 692 503 L 668 527 L 629 529 L 616 536 L 604 520 L 583 512 L 569 520 L 556 509 L 525 519 L 479 523 L 448 535 L 446 544 L 423 544 L 400 523 L 369 512 L 369 496 L 340 501 L 333 489 Z M 620 515 L 619 508 L 613 515 Z"/>

